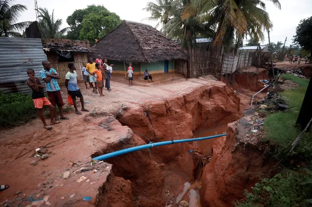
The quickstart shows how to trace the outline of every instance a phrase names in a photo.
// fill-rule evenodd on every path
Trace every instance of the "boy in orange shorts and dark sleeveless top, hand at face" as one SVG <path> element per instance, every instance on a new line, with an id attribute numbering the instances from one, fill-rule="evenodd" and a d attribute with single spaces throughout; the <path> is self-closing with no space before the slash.
<path id="1" fill-rule="evenodd" d="M 43 89 L 45 88 L 45 86 L 42 85 L 40 80 L 35 77 L 35 71 L 33 69 L 27 69 L 27 75 L 29 77 L 29 79 L 27 80 L 27 85 L 33 91 L 32 98 L 35 104 L 35 108 L 38 110 L 39 117 L 42 120 L 43 127 L 45 129 L 52 129 L 51 125 L 60 123 L 61 121 L 54 120 L 55 109 L 54 109 L 54 106 L 51 104 L 51 102 L 44 96 Z M 50 118 L 51 118 L 50 125 L 48 125 L 45 122 L 45 118 L 43 116 L 43 111 L 42 111 L 43 106 L 47 106 L 50 109 Z"/>

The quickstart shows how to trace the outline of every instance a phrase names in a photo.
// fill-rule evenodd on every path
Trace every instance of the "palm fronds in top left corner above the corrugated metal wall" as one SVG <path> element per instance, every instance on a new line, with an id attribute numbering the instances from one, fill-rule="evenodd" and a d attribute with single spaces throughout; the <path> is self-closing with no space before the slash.
<path id="1" fill-rule="evenodd" d="M 21 34 L 17 30 L 22 30 L 31 23 L 16 23 L 21 12 L 27 10 L 27 7 L 12 2 L 13 0 L 0 0 L 0 36 L 20 36 Z"/>

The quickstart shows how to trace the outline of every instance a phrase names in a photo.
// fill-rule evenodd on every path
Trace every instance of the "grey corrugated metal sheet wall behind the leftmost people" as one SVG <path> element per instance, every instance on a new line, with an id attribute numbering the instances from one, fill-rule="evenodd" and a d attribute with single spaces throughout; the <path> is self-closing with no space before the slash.
<path id="1" fill-rule="evenodd" d="M 43 60 L 41 39 L 0 37 L 0 91 L 31 93 L 26 70 L 34 69 L 38 77 Z"/>

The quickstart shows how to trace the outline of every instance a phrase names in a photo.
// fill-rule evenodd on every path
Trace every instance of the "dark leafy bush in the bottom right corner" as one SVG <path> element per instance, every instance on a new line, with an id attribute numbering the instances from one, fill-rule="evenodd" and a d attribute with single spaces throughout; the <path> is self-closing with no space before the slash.
<path id="1" fill-rule="evenodd" d="M 311 207 L 311 171 L 283 170 L 271 179 L 255 184 L 252 192 L 246 191 L 246 201 L 235 207 Z"/>

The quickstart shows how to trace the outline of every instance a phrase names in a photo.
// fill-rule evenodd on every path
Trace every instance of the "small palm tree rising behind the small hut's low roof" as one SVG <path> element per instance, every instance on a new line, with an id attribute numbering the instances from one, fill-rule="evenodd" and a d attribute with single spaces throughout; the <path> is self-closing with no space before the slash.
<path id="1" fill-rule="evenodd" d="M 62 25 L 62 19 L 54 19 L 54 10 L 52 15 L 46 8 L 39 8 L 39 18 L 40 18 L 40 30 L 45 38 L 62 38 L 62 35 L 68 30 L 69 27 L 65 27 L 60 30 Z"/>

